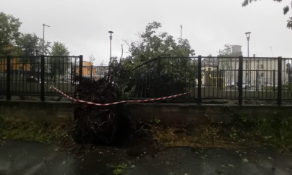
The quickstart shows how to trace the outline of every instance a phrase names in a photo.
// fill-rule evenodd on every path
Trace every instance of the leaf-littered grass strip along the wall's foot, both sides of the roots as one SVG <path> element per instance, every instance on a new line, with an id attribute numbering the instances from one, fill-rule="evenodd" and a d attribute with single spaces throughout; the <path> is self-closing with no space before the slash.
<path id="1" fill-rule="evenodd" d="M 76 144 L 69 133 L 74 124 L 39 124 L 33 122 L 8 122 L 0 119 L 0 139 L 57 144 L 70 149 Z M 165 126 L 153 119 L 140 130 L 152 135 L 158 147 L 273 147 L 292 151 L 292 117 L 274 119 L 249 119 L 235 116 L 229 124 Z M 143 137 L 143 135 L 141 136 Z M 119 166 L 117 166 L 119 167 Z M 123 168 L 122 168 L 123 169 Z M 122 170 L 117 169 L 117 172 Z"/>

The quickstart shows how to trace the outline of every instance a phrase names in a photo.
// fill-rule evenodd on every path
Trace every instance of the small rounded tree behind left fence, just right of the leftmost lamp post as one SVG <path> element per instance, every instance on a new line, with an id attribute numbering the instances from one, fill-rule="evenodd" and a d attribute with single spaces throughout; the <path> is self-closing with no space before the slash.
<path id="1" fill-rule="evenodd" d="M 54 42 L 51 47 L 51 56 L 49 57 L 49 68 L 51 69 L 51 81 L 56 81 L 56 74 L 63 75 L 68 74 L 70 68 L 70 59 L 67 57 L 70 55 L 65 44 L 62 42 Z"/>

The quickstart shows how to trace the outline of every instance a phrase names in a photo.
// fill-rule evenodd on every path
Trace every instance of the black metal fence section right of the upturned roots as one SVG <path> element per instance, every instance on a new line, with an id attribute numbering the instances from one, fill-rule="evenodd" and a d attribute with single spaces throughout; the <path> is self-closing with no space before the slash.
<path id="1" fill-rule="evenodd" d="M 292 100 L 292 58 L 159 57 L 134 69 L 136 98 L 188 92 L 189 101 Z M 200 80 L 200 81 L 198 81 Z"/>

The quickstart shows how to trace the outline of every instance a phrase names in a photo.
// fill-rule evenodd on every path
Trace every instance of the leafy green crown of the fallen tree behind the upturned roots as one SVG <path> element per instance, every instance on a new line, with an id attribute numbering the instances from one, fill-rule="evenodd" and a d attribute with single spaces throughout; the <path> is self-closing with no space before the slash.
<path id="1" fill-rule="evenodd" d="M 161 91 L 165 89 L 165 94 L 168 92 L 175 93 L 175 90 L 171 89 L 175 87 L 174 84 L 182 89 L 186 86 L 179 81 L 181 77 L 184 77 L 185 80 L 188 79 L 186 82 L 195 82 L 194 79 L 197 77 L 195 61 L 191 60 L 191 58 L 186 58 L 195 56 L 195 51 L 191 49 L 188 40 L 179 38 L 176 42 L 172 35 L 168 35 L 166 32 L 159 32 L 160 28 L 161 23 L 159 22 L 149 23 L 145 31 L 142 34 L 138 34 L 138 41 L 126 42 L 129 46 L 130 54 L 127 58 L 121 60 L 120 71 L 118 72 L 119 84 L 124 85 L 126 88 L 123 89 L 126 89 L 126 91 L 127 88 L 132 90 L 135 87 L 135 81 L 138 78 L 144 78 L 145 85 L 147 85 L 147 82 L 152 83 L 152 85 L 148 85 L 148 90 L 156 90 L 156 87 L 159 86 Z M 153 58 L 159 58 L 159 56 L 176 58 L 150 61 Z M 136 69 L 135 73 L 133 72 L 134 67 L 147 61 L 149 63 Z M 109 65 L 110 67 L 115 67 L 117 60 L 111 60 Z M 115 69 L 111 68 L 111 70 L 114 71 Z M 181 92 L 182 89 L 176 90 Z M 156 94 L 149 92 L 149 96 L 156 96 Z"/>

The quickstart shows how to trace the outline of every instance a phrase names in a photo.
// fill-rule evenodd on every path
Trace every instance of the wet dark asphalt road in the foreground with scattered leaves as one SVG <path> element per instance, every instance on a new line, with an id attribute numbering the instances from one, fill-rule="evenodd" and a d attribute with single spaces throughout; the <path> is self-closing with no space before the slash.
<path id="1" fill-rule="evenodd" d="M 121 149 L 122 151 L 122 149 Z M 143 158 L 70 155 L 54 146 L 0 141 L 0 174 L 113 174 L 108 164 L 127 165 L 122 174 L 292 174 L 292 156 L 270 149 L 168 148 Z"/>

